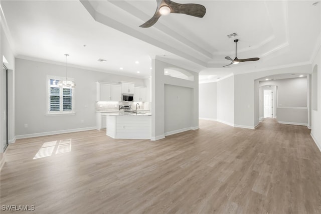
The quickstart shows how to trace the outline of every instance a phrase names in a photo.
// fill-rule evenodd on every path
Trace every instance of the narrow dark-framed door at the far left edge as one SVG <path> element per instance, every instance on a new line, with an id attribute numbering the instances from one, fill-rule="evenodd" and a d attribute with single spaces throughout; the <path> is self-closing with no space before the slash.
<path id="1" fill-rule="evenodd" d="M 4 130 L 2 131 L 3 133 L 3 139 L 2 139 L 2 145 L 4 146 L 4 151 L 8 147 L 8 69 L 5 65 L 3 65 L 3 72 L 2 72 L 2 116 L 3 116 L 3 127 Z"/>

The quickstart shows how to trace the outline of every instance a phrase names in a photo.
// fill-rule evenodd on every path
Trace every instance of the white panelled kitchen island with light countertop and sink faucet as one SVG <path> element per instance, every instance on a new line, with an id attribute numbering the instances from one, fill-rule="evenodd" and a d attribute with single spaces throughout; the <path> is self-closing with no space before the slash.
<path id="1" fill-rule="evenodd" d="M 116 139 L 150 139 L 151 114 L 108 114 L 106 135 Z"/>

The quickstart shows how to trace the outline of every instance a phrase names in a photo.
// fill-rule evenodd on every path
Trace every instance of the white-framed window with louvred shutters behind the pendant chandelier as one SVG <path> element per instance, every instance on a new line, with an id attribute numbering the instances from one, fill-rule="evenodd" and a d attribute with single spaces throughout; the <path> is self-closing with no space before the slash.
<path id="1" fill-rule="evenodd" d="M 63 77 L 47 77 L 48 83 L 48 113 L 75 113 L 75 89 L 59 86 Z M 70 78 L 68 78 L 70 80 Z M 73 80 L 72 80 L 73 81 Z"/>

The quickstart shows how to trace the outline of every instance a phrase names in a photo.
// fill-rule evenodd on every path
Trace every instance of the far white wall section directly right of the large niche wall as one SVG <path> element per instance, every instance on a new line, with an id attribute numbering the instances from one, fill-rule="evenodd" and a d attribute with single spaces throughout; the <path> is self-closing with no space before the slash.
<path id="1" fill-rule="evenodd" d="M 217 82 L 199 84 L 199 118 L 217 119 Z"/>

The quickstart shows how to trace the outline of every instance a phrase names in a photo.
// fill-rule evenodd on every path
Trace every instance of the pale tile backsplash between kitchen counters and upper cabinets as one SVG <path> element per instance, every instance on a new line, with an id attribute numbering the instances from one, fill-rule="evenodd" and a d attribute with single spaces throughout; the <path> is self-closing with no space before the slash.
<path id="1" fill-rule="evenodd" d="M 96 102 L 96 111 L 117 111 L 119 105 L 130 105 L 135 110 L 136 103 L 139 103 L 140 110 L 150 110 L 150 102 Z"/>

